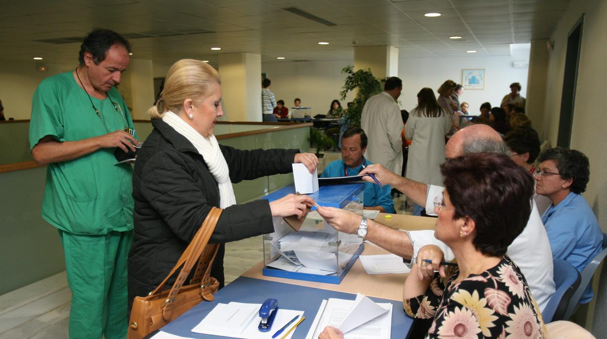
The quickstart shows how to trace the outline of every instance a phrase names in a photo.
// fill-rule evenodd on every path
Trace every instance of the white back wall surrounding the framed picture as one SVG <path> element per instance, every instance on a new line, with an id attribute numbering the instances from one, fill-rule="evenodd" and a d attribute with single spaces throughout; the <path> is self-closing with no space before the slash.
<path id="1" fill-rule="evenodd" d="M 398 65 L 398 76 L 402 79 L 402 94 L 399 98 L 402 109 L 412 110 L 417 106 L 417 93 L 423 87 L 430 87 L 438 96 L 436 90 L 447 79 L 461 84 L 463 69 L 485 69 L 485 86 L 483 90 L 464 90 L 459 102 L 470 104 L 471 114 L 479 112 L 483 102 L 489 101 L 492 106 L 500 106 L 501 99 L 510 93 L 510 84 L 520 82 L 523 90 L 527 92 L 527 69 L 512 68 L 513 61 L 529 61 L 527 59 L 515 60 L 512 56 L 465 56 L 456 58 L 404 58 L 401 57 Z"/>

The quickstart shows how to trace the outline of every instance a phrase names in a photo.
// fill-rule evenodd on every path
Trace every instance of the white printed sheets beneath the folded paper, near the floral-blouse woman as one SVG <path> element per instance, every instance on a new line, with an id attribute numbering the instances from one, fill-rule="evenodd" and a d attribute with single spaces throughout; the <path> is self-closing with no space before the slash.
<path id="1" fill-rule="evenodd" d="M 310 327 L 306 339 L 316 339 L 324 331 L 325 327 L 337 327 L 348 314 L 354 300 L 329 299 L 323 300 L 319 310 Z M 379 317 L 376 317 L 367 323 L 355 327 L 345 333 L 345 339 L 390 339 L 392 326 L 392 304 L 378 304 L 384 309 L 388 309 Z"/>

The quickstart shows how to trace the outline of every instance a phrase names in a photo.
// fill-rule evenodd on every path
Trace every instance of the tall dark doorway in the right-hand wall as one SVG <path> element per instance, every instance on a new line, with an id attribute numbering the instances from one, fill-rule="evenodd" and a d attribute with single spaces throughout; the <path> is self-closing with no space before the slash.
<path id="1" fill-rule="evenodd" d="M 577 71 L 582 47 L 582 27 L 584 16 L 574 25 L 567 38 L 565 57 L 565 77 L 563 78 L 563 95 L 561 96 L 561 115 L 558 121 L 558 147 L 568 147 L 571 142 L 571 127 L 575 107 L 575 88 L 577 87 Z"/>

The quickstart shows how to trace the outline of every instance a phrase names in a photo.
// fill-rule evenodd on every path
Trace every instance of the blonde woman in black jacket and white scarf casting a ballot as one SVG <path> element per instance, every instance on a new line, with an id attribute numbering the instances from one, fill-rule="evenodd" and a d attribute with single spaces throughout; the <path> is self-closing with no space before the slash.
<path id="1" fill-rule="evenodd" d="M 129 301 L 147 295 L 168 275 L 212 207 L 225 211 L 210 242 L 226 243 L 271 233 L 273 216 L 302 216 L 313 204 L 305 195 L 236 204 L 232 183 L 290 173 L 292 163 L 303 163 L 313 172 L 318 159 L 296 149 L 238 150 L 219 145 L 213 132 L 223 115 L 220 84 L 219 73 L 206 62 L 177 61 L 149 110 L 154 130 L 138 151 L 133 175 Z M 224 251 L 222 244 L 211 270 L 220 287 Z"/>

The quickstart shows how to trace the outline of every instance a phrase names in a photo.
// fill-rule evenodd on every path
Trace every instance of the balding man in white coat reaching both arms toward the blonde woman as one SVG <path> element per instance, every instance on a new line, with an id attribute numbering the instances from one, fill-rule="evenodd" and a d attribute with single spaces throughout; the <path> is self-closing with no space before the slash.
<path id="1" fill-rule="evenodd" d="M 510 151 L 501 136 L 491 127 L 483 124 L 459 130 L 445 146 L 447 158 L 476 152 L 496 152 L 510 156 Z M 379 164 L 368 166 L 361 171 L 361 174 L 364 173 L 373 173 L 382 184 L 395 187 L 415 203 L 426 206 L 426 212 L 429 215 L 436 215 L 433 211 L 433 200 L 436 196 L 442 196 L 443 187 L 403 178 Z M 506 254 L 523 272 L 532 295 L 540 310 L 543 310 L 555 290 L 554 281 L 552 281 L 552 250 L 537 207 L 533 201 L 531 203 L 533 203 L 533 209 L 527 226 L 523 233 L 510 244 Z M 354 234 L 361 228 L 362 218 L 355 213 L 331 207 L 322 207 L 318 209 L 318 212 L 327 220 L 327 223 L 341 232 Z M 422 246 L 434 244 L 443 250 L 446 261 L 455 258 L 448 246 L 436 240 L 433 230 L 400 232 L 376 221 L 368 220 L 366 232 L 365 239 L 399 257 L 415 261 L 414 254 L 418 253 Z"/>

